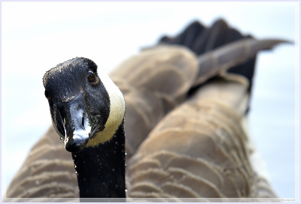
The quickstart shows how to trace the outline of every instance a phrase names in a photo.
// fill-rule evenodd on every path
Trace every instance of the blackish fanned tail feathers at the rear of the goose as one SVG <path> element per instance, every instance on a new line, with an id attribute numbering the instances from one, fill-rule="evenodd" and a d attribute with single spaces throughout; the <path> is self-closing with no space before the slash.
<path id="1" fill-rule="evenodd" d="M 166 37 L 160 39 L 161 44 L 179 44 L 184 45 L 191 49 L 199 58 L 202 58 L 204 54 L 211 52 L 221 46 L 227 45 L 231 42 L 242 40 L 242 39 L 253 39 L 250 35 L 242 35 L 236 29 L 230 28 L 228 24 L 223 20 L 219 19 L 213 23 L 212 27 L 206 28 L 199 22 L 192 22 L 182 33 L 174 38 Z M 232 51 L 232 50 L 231 50 Z M 208 57 L 208 55 L 206 55 Z M 248 58 L 243 64 L 237 65 L 235 67 L 227 67 L 228 72 L 238 73 L 244 75 L 250 81 L 249 91 L 251 90 L 252 79 L 254 75 L 254 65 L 256 57 Z M 208 59 L 206 60 L 208 62 Z M 214 62 L 214 59 L 213 59 Z M 236 65 L 236 64 L 235 64 Z M 200 64 L 200 73 L 204 74 L 203 64 Z M 219 67 L 215 75 L 219 73 Z M 209 70 L 206 70 L 209 71 Z M 210 73 L 212 70 L 210 70 Z M 214 76 L 214 75 L 213 75 Z M 202 80 L 207 75 L 201 76 Z M 195 85 L 199 85 L 200 80 Z M 203 81 L 202 81 L 203 82 Z"/>

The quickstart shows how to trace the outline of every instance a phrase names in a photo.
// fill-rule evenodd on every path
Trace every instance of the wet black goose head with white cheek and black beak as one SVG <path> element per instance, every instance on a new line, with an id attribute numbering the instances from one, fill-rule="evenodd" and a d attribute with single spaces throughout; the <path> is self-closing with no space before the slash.
<path id="1" fill-rule="evenodd" d="M 112 80 L 87 58 L 73 58 L 43 77 L 53 126 L 69 152 L 105 143 L 122 124 L 125 101 Z"/>

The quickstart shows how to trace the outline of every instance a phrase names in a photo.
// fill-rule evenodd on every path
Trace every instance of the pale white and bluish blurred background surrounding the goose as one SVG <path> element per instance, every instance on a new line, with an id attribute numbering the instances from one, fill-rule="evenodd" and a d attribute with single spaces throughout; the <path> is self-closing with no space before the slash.
<path id="1" fill-rule="evenodd" d="M 258 55 L 249 124 L 276 194 L 298 197 L 299 2 L 2 2 L 2 197 L 51 125 L 47 70 L 78 56 L 109 73 L 163 35 L 219 18 L 258 39 L 293 42 Z"/>

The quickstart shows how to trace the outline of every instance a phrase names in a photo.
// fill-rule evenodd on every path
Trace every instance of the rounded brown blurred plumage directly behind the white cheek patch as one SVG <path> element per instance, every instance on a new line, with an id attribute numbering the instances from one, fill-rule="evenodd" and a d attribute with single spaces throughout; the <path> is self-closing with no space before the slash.
<path id="1" fill-rule="evenodd" d="M 157 46 L 127 59 L 110 73 L 126 101 L 127 159 L 157 122 L 185 100 L 197 70 L 197 59 L 189 49 Z"/>

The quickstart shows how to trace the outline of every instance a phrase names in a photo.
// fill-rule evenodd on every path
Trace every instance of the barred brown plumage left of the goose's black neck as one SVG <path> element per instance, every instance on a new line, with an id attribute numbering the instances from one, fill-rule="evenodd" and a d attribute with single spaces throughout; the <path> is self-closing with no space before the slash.
<path id="1" fill-rule="evenodd" d="M 71 153 L 50 127 L 30 150 L 3 202 L 77 202 L 66 199 L 76 197 L 79 190 Z"/>

